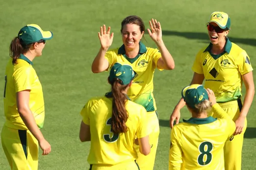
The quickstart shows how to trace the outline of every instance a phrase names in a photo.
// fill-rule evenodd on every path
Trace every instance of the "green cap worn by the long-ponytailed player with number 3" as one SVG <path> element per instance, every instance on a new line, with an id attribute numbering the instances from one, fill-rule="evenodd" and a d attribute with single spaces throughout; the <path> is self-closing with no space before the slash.
<path id="1" fill-rule="evenodd" d="M 112 83 L 115 78 L 122 81 L 122 85 L 128 85 L 134 78 L 134 71 L 128 64 L 115 63 L 109 73 L 109 81 Z"/>

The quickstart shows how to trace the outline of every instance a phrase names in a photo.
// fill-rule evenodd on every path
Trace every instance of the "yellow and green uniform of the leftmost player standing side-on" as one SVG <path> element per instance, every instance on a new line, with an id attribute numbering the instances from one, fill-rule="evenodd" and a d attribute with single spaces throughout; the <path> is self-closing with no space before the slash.
<path id="1" fill-rule="evenodd" d="M 27 129 L 18 112 L 16 93 L 30 90 L 29 108 L 37 126 L 42 128 L 45 118 L 42 85 L 31 61 L 21 54 L 17 63 L 13 65 L 10 59 L 6 66 L 3 98 L 6 121 L 1 132 L 1 141 L 13 170 L 26 170 L 26 168 L 37 170 L 38 142 Z"/>

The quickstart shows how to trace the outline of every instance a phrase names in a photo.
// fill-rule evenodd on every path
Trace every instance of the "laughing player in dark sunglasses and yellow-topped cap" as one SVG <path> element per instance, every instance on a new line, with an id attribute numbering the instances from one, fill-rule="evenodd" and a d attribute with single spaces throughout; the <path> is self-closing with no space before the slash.
<path id="1" fill-rule="evenodd" d="M 217 103 L 235 122 L 235 138 L 224 147 L 225 170 L 241 170 L 244 132 L 247 127 L 246 116 L 255 93 L 253 67 L 246 51 L 228 39 L 230 17 L 224 12 L 213 12 L 207 22 L 210 44 L 202 48 L 193 64 L 192 84 L 202 84 L 213 90 Z M 241 88 L 244 83 L 246 93 L 242 104 Z M 179 123 L 179 110 L 185 105 L 183 99 L 175 107 L 170 126 Z M 218 117 L 214 113 L 209 113 Z"/>

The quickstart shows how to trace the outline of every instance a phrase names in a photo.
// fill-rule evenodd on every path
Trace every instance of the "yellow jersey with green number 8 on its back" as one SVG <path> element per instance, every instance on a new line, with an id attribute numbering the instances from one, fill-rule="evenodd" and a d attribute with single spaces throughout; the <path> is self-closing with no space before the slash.
<path id="1" fill-rule="evenodd" d="M 223 148 L 235 124 L 218 104 L 212 111 L 221 118 L 190 118 L 173 127 L 169 170 L 224 170 Z"/>

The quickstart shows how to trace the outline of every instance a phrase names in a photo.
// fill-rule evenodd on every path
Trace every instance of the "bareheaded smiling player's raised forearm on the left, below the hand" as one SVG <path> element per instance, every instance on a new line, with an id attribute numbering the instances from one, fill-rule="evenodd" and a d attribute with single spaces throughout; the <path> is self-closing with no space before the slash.
<path id="1" fill-rule="evenodd" d="M 99 53 L 95 57 L 93 63 L 92 63 L 92 72 L 93 73 L 100 73 L 102 71 L 105 71 L 106 64 L 108 64 L 108 61 L 105 59 L 105 54 L 107 52 L 107 49 L 100 48 Z"/>

